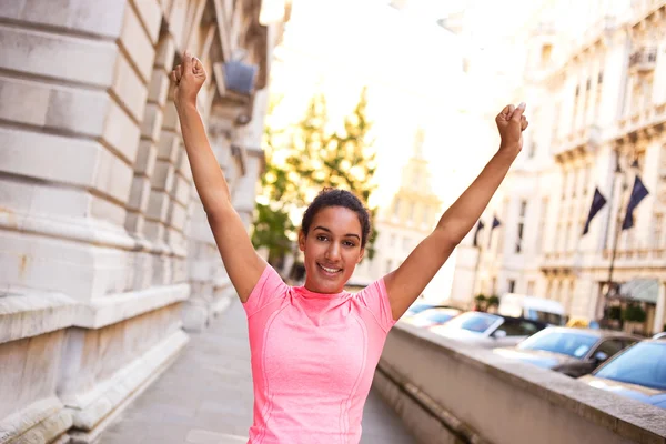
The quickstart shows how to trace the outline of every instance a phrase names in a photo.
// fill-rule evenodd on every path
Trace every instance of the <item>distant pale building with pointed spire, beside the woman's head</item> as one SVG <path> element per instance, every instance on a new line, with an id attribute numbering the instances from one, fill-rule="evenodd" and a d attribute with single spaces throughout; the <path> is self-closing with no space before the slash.
<path id="1" fill-rule="evenodd" d="M 351 286 L 369 285 L 397 269 L 437 223 L 442 202 L 432 189 L 428 162 L 423 155 L 424 138 L 424 131 L 418 130 L 413 154 L 402 170 L 400 188 L 390 205 L 377 209 L 375 255 L 359 264 L 350 280 Z M 423 296 L 435 302 L 448 300 L 452 273 L 451 265 L 443 268 Z"/>

